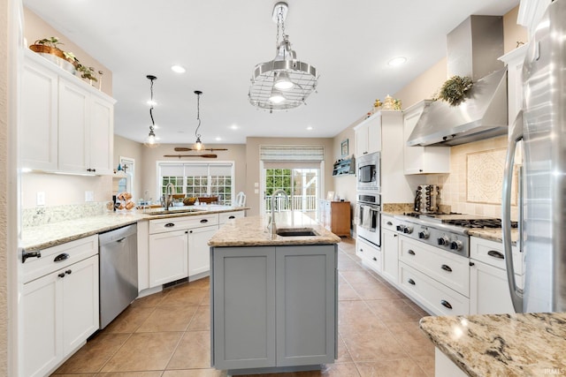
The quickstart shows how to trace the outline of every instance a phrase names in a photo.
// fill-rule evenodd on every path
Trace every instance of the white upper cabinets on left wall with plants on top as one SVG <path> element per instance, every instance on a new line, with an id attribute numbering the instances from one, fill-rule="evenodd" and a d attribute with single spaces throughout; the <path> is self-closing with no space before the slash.
<path id="1" fill-rule="evenodd" d="M 26 50 L 20 98 L 23 168 L 112 173 L 111 97 Z"/>

